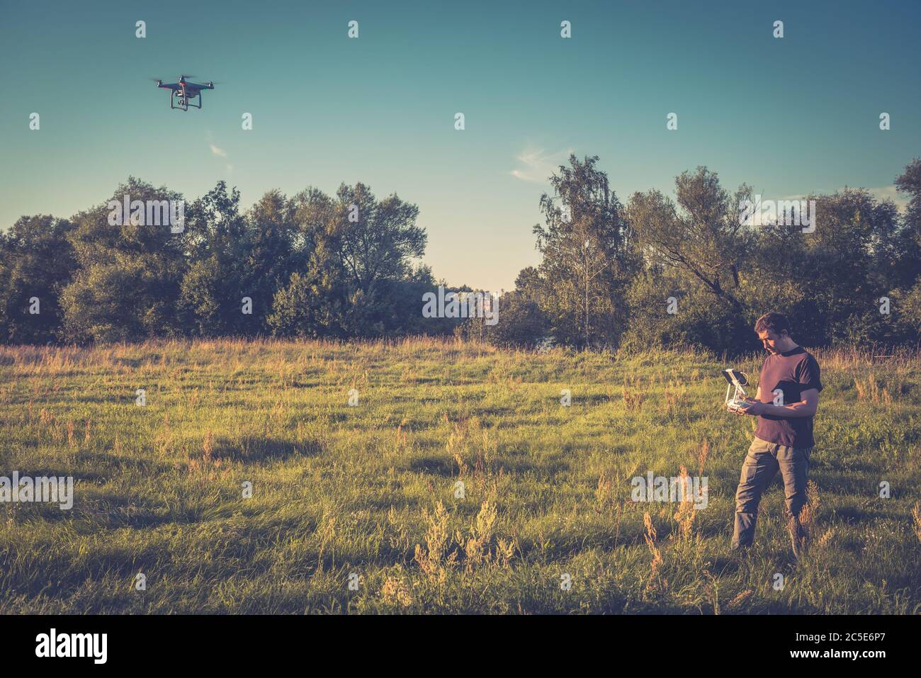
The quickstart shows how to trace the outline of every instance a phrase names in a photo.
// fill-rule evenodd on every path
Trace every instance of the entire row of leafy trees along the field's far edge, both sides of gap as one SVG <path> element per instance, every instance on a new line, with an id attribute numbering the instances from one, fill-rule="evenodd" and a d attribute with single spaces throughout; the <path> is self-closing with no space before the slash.
<path id="1" fill-rule="evenodd" d="M 419 209 L 362 183 L 335 195 L 265 193 L 250 209 L 224 181 L 185 206 L 181 232 L 111 218 L 110 201 L 69 218 L 22 216 L 0 234 L 0 341 L 135 341 L 153 336 L 371 338 L 455 333 L 502 345 L 693 344 L 756 348 L 765 310 L 805 345 L 918 342 L 921 160 L 895 185 L 900 211 L 864 189 L 810 195 L 810 229 L 740 220 L 753 200 L 706 168 L 674 199 L 626 205 L 597 157 L 570 156 L 540 199 L 541 263 L 498 301 L 498 322 L 425 318 L 445 285 L 421 263 Z M 111 200 L 179 201 L 129 177 Z M 808 231 L 808 232 L 804 232 Z M 453 290 L 472 291 L 470 286 Z"/>

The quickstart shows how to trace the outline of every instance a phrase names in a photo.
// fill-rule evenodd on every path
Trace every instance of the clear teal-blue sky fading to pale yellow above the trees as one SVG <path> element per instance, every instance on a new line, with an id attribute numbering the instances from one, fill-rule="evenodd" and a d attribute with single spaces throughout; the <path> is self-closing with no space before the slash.
<path id="1" fill-rule="evenodd" d="M 363 181 L 419 205 L 438 278 L 510 289 L 569 151 L 600 156 L 624 203 L 698 165 L 765 198 L 894 195 L 921 155 L 919 19 L 915 1 L 0 0 L 0 227 L 129 174 L 188 199 L 224 179 L 246 206 Z M 223 84 L 170 111 L 146 78 L 180 73 Z"/>

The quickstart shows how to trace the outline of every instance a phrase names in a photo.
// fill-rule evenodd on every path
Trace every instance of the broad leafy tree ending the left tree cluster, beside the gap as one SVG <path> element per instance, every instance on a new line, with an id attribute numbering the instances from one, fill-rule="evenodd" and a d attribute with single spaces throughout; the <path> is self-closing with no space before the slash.
<path id="1" fill-rule="evenodd" d="M 385 336 L 424 332 L 422 292 L 433 281 L 413 260 L 426 249 L 416 205 L 377 200 L 363 183 L 330 199 L 316 189 L 294 200 L 295 270 L 274 297 L 272 332 Z"/>

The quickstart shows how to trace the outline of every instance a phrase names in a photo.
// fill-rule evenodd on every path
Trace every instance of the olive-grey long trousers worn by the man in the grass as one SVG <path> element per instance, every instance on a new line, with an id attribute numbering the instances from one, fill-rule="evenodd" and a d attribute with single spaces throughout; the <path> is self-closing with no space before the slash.
<path id="1" fill-rule="evenodd" d="M 787 513 L 799 517 L 806 503 L 806 473 L 812 448 L 791 448 L 761 438 L 755 438 L 739 479 L 736 490 L 736 526 L 732 534 L 732 547 L 751 546 L 754 525 L 758 520 L 758 503 L 762 493 L 774 480 L 777 470 L 784 479 L 787 495 Z"/>

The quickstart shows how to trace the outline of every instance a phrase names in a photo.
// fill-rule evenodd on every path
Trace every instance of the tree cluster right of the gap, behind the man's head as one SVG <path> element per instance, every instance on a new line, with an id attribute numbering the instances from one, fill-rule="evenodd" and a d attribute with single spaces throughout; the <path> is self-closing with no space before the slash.
<path id="1" fill-rule="evenodd" d="M 776 310 L 804 345 L 917 345 L 921 330 L 921 160 L 895 180 L 908 203 L 866 189 L 811 194 L 812 223 L 777 214 L 746 223 L 705 167 L 675 178 L 674 198 L 634 193 L 626 205 L 598 158 L 570 156 L 544 193 L 534 227 L 542 262 L 503 297 L 495 341 L 554 337 L 581 347 L 701 345 L 757 350 L 752 326 Z"/>

